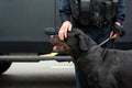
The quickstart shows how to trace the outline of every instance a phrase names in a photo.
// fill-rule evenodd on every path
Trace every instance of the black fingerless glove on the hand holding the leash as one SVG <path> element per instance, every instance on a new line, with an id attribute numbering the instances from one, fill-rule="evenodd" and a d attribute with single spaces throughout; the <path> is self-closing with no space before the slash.
<path id="1" fill-rule="evenodd" d="M 120 36 L 125 35 L 125 32 L 123 31 L 121 25 L 114 24 L 111 30 L 113 31 L 114 34 L 120 33 Z"/>

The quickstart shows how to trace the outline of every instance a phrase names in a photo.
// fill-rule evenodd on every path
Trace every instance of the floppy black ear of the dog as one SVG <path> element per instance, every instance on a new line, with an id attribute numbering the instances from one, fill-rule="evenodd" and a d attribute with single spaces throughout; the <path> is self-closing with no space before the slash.
<path id="1" fill-rule="evenodd" d="M 88 43 L 87 43 L 87 37 L 84 35 L 79 35 L 79 47 L 81 51 L 87 51 L 88 50 Z"/>

